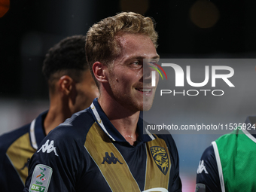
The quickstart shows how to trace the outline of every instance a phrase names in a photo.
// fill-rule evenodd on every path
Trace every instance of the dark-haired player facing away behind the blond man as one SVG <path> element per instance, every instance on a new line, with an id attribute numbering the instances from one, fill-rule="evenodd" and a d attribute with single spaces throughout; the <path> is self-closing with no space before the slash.
<path id="1" fill-rule="evenodd" d="M 65 38 L 50 48 L 43 66 L 50 93 L 50 108 L 32 123 L 0 137 L 1 191 L 22 191 L 28 164 L 38 145 L 54 127 L 73 113 L 90 106 L 98 89 L 87 65 L 85 36 Z"/>

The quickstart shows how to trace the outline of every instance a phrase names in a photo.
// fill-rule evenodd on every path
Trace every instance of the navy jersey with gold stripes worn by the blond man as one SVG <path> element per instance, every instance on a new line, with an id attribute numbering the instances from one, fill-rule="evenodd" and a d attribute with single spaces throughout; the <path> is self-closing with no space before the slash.
<path id="1" fill-rule="evenodd" d="M 94 99 L 44 139 L 23 191 L 181 191 L 172 136 L 143 129 L 139 118 L 139 137 L 130 145 Z"/>

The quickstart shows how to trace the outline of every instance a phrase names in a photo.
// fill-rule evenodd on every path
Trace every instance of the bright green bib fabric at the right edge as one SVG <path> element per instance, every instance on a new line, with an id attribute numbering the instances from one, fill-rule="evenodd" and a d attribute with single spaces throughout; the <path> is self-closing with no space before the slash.
<path id="1" fill-rule="evenodd" d="M 242 130 L 216 140 L 225 191 L 256 191 L 256 143 Z"/>

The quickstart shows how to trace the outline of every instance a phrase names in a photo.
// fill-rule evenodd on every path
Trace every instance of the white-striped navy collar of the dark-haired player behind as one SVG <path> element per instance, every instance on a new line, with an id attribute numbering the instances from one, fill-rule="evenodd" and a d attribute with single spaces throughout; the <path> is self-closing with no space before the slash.
<path id="1" fill-rule="evenodd" d="M 44 133 L 44 118 L 46 117 L 48 111 L 44 111 L 43 113 L 39 114 L 32 122 L 30 123 L 30 130 L 29 130 L 29 138 L 32 148 L 35 150 L 38 149 L 38 145 L 45 137 Z"/>

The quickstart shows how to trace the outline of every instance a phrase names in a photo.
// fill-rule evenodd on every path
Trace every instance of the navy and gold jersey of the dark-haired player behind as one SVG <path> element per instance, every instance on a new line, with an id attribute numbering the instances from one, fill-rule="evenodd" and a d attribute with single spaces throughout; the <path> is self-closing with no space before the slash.
<path id="1" fill-rule="evenodd" d="M 47 111 L 29 123 L 0 136 L 0 188 L 1 191 L 22 191 L 28 176 L 32 154 L 44 139 L 44 117 Z"/>

